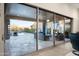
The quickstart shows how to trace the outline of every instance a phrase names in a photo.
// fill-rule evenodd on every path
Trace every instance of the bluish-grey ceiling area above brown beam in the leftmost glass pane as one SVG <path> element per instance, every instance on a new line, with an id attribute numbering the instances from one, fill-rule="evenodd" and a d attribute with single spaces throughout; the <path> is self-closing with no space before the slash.
<path id="1" fill-rule="evenodd" d="M 20 16 L 27 18 L 36 18 L 36 9 L 26 5 L 11 3 L 6 5 L 6 14 L 11 16 Z"/>

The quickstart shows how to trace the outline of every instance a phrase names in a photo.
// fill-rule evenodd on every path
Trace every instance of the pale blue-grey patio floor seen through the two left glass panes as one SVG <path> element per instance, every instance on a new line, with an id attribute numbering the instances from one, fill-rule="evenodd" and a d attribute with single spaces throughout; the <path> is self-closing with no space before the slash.
<path id="1" fill-rule="evenodd" d="M 53 45 L 53 41 L 38 40 L 38 49 Z M 33 33 L 19 33 L 5 41 L 5 55 L 17 56 L 36 51 L 36 39 Z"/>

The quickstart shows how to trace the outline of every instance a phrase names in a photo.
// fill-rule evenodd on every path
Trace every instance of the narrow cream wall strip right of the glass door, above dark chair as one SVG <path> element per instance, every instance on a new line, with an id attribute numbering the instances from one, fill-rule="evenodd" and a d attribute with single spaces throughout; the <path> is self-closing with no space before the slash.
<path id="1" fill-rule="evenodd" d="M 73 32 L 79 32 L 79 13 L 78 9 L 73 9 L 72 17 L 73 17 Z"/>

